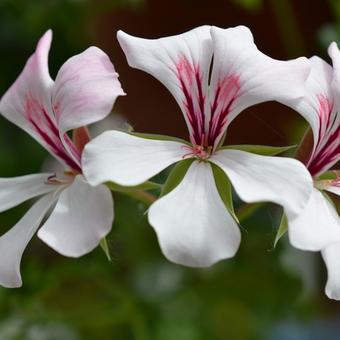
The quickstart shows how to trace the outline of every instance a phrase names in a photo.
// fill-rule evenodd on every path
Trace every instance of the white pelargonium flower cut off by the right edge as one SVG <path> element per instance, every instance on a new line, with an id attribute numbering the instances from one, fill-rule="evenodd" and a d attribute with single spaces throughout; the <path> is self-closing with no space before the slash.
<path id="1" fill-rule="evenodd" d="M 310 59 L 305 98 L 292 105 L 312 129 L 314 144 L 306 166 L 314 178 L 314 189 L 303 213 L 297 219 L 288 218 L 288 234 L 297 248 L 322 250 L 328 269 L 326 294 L 340 299 L 340 219 L 326 194 L 340 195 L 340 177 L 334 172 L 331 178 L 322 179 L 340 160 L 340 52 L 335 43 L 329 54 L 333 68 L 319 57 Z"/>

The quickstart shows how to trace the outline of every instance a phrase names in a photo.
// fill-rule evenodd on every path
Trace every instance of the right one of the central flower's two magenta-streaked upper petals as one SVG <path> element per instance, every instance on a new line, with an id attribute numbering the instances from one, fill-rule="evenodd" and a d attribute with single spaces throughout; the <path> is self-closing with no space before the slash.
<path id="1" fill-rule="evenodd" d="M 210 84 L 212 106 L 209 138 L 218 144 L 227 125 L 245 108 L 276 100 L 302 98 L 310 72 L 306 58 L 272 59 L 260 52 L 245 26 L 211 28 L 214 62 Z M 215 104 L 217 103 L 217 104 Z"/>

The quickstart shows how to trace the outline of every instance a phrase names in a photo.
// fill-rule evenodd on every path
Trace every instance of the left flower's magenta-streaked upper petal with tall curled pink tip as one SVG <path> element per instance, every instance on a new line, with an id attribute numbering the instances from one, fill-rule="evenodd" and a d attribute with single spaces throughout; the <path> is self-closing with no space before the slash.
<path id="1" fill-rule="evenodd" d="M 54 85 L 48 71 L 51 41 L 52 31 L 49 30 L 39 40 L 36 51 L 18 79 L 2 97 L 0 112 L 34 137 L 58 160 L 80 171 L 80 157 L 74 160 L 65 149 L 51 106 Z"/>

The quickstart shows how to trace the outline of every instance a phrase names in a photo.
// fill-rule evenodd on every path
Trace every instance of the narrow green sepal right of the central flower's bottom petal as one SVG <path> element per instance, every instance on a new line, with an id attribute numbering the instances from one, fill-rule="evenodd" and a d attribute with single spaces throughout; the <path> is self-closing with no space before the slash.
<path id="1" fill-rule="evenodd" d="M 214 174 L 214 179 L 218 193 L 220 194 L 221 199 L 224 205 L 226 206 L 227 210 L 230 212 L 231 216 L 233 216 L 235 221 L 239 223 L 239 220 L 234 210 L 232 186 L 230 180 L 221 168 L 219 168 L 217 165 L 213 163 L 210 163 L 210 165 Z"/>

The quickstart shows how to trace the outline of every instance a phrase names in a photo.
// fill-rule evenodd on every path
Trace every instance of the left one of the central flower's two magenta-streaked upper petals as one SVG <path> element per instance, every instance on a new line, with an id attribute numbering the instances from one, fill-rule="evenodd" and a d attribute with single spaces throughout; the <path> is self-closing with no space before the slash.
<path id="1" fill-rule="evenodd" d="M 206 93 L 212 58 L 210 27 L 161 38 L 141 39 L 122 31 L 118 41 L 130 66 L 161 81 L 181 107 L 190 137 L 201 144 L 204 133 Z"/>

